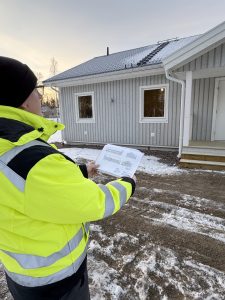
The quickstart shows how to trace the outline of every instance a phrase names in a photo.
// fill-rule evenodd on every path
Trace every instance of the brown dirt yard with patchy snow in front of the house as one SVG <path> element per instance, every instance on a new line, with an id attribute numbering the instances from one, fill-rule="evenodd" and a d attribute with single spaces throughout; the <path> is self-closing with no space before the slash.
<path id="1" fill-rule="evenodd" d="M 176 162 L 172 152 L 149 154 Z M 91 299 L 225 299 L 224 194 L 223 172 L 138 172 L 131 200 L 91 225 Z M 3 273 L 0 285 L 0 299 L 11 299 Z"/>

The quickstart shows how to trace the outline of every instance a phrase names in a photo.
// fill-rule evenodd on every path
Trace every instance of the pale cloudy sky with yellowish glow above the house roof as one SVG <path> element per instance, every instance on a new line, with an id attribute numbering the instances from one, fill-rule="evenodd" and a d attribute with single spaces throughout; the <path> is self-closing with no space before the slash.
<path id="1" fill-rule="evenodd" d="M 96 56 L 204 33 L 225 0 L 0 0 L 0 55 L 49 77 Z"/>

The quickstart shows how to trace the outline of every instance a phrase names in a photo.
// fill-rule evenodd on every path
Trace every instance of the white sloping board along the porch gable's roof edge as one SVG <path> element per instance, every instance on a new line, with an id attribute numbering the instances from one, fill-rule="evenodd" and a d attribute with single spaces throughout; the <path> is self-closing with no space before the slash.
<path id="1" fill-rule="evenodd" d="M 179 68 L 225 41 L 225 22 L 217 25 L 163 60 L 165 70 Z"/>

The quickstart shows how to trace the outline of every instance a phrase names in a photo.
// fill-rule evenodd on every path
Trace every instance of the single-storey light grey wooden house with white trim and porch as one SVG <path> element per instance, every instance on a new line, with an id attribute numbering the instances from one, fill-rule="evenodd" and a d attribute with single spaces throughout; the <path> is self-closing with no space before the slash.
<path id="1" fill-rule="evenodd" d="M 225 22 L 95 57 L 44 84 L 59 88 L 69 144 L 177 148 L 183 166 L 225 169 Z"/>

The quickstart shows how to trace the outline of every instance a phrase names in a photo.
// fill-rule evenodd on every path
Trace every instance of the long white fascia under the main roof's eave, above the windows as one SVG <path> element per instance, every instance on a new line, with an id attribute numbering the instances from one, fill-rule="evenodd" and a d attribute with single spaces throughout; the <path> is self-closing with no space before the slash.
<path id="1" fill-rule="evenodd" d="M 107 82 L 113 80 L 143 77 L 149 75 L 159 75 L 164 73 L 165 70 L 162 67 L 162 64 L 157 64 L 154 66 L 132 68 L 129 70 L 101 73 L 101 74 L 84 76 L 79 78 L 70 78 L 66 80 L 57 80 L 57 81 L 51 81 L 46 83 L 44 82 L 44 85 L 56 86 L 56 87 L 67 87 L 67 86 L 76 86 L 76 85 L 84 85 L 84 84 L 91 84 L 91 83 Z"/>

